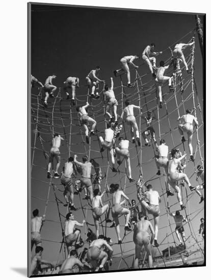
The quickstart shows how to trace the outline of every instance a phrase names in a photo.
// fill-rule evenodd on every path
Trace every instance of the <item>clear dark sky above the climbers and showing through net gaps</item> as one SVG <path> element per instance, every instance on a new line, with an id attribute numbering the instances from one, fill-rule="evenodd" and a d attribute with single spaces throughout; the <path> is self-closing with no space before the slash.
<path id="1" fill-rule="evenodd" d="M 37 77 L 42 83 L 44 83 L 45 78 L 52 74 L 57 73 L 57 79 L 55 79 L 55 85 L 60 87 L 63 81 L 68 76 L 77 76 L 80 78 L 81 85 L 85 85 L 85 77 L 91 69 L 94 69 L 96 65 L 100 65 L 102 68 L 100 77 L 102 79 L 109 79 L 113 75 L 113 70 L 119 68 L 119 60 L 124 55 L 142 53 L 146 45 L 154 42 L 156 45 L 155 51 L 166 50 L 168 46 L 174 45 L 177 40 L 179 40 L 184 35 L 188 34 L 195 27 L 195 18 L 194 15 L 188 14 L 174 14 L 174 13 L 155 13 L 155 12 L 140 12 L 140 11 L 118 11 L 118 10 L 100 10 L 100 9 L 85 9 L 85 8 L 68 8 L 68 7 L 50 7 L 50 6 L 32 6 L 32 74 Z M 55 11 L 54 11 L 55 10 Z M 201 17 L 202 18 L 202 17 Z M 184 38 L 184 43 L 187 43 L 193 33 L 190 33 Z M 198 89 L 198 97 L 201 108 L 203 107 L 203 73 L 202 73 L 202 58 L 200 53 L 200 48 L 198 44 L 198 38 L 196 38 L 196 50 L 195 50 L 195 75 Z M 185 51 L 186 55 L 190 53 L 190 49 Z M 161 57 L 157 58 L 157 61 L 167 60 L 170 58 L 171 53 L 169 50 L 166 50 Z M 142 61 L 140 60 L 137 64 L 141 65 Z M 158 64 L 158 63 L 157 63 Z M 143 75 L 148 72 L 146 65 L 141 66 L 138 70 L 140 75 Z M 171 71 L 170 71 L 171 72 Z M 132 81 L 134 80 L 134 71 L 131 72 Z M 183 77 L 184 82 L 187 82 L 190 79 L 190 76 L 184 71 Z M 124 77 L 125 79 L 125 77 Z M 148 74 L 143 77 L 143 83 L 150 81 L 151 77 Z M 152 86 L 153 82 L 149 82 L 146 87 Z M 120 81 L 118 78 L 114 79 L 114 86 L 119 87 Z M 191 93 L 191 85 L 187 87 L 186 91 L 183 94 L 183 100 L 185 100 Z M 119 101 L 118 113 L 121 113 L 121 89 L 118 88 L 115 90 L 115 95 Z M 125 93 L 130 100 L 134 101 L 134 104 L 138 105 L 138 94 L 136 89 L 125 89 Z M 164 88 L 164 93 L 167 93 L 167 87 Z M 35 95 L 38 94 L 38 90 L 33 89 L 32 91 L 32 107 L 36 108 L 36 98 Z M 55 94 L 56 95 L 56 94 Z M 78 104 L 86 103 L 87 88 L 82 87 L 78 89 L 76 96 L 78 98 Z M 64 93 L 61 93 L 61 97 L 65 98 Z M 170 99 L 171 95 L 166 95 L 165 99 Z M 177 96 L 178 102 L 181 102 L 181 96 Z M 155 90 L 150 91 L 150 95 L 147 96 L 147 102 L 150 101 L 149 108 L 156 108 L 155 100 Z M 52 112 L 52 100 L 49 100 L 49 107 L 46 110 L 49 117 L 49 122 L 51 123 L 51 112 Z M 144 105 L 144 98 L 141 98 L 141 106 L 143 111 L 146 111 L 146 106 Z M 196 102 L 197 104 L 197 102 Z M 93 101 L 93 111 L 94 116 L 97 120 L 97 129 L 98 135 L 103 135 L 104 123 L 103 123 L 103 110 L 102 110 L 102 100 Z M 69 143 L 69 130 L 70 130 L 70 120 L 69 118 L 69 102 L 62 101 L 62 117 L 66 117 L 64 120 L 65 130 Z M 184 104 L 185 108 L 193 108 L 192 98 Z M 168 113 L 172 114 L 170 117 L 171 128 L 174 129 L 177 126 L 177 110 L 175 105 L 175 99 L 172 98 L 167 103 Z M 182 115 L 184 113 L 183 105 L 179 108 L 179 113 Z M 202 108 L 203 113 L 203 108 Z M 92 108 L 89 109 L 89 114 L 92 115 Z M 157 111 L 154 110 L 154 114 L 157 117 Z M 159 110 L 161 121 L 161 133 L 166 133 L 169 131 L 168 119 L 166 117 L 165 106 L 163 109 Z M 137 112 L 137 122 L 139 125 L 139 112 Z M 51 133 L 49 126 L 46 122 L 45 116 L 43 114 L 43 109 L 40 110 L 39 120 L 41 129 L 41 137 L 44 142 L 45 151 L 49 152 Z M 88 149 L 88 145 L 82 143 L 82 137 L 79 132 L 79 126 L 77 126 L 77 114 L 75 107 L 72 108 L 72 117 L 73 125 L 71 127 L 71 155 L 74 153 L 78 154 L 78 160 L 82 159 L 82 155 L 85 154 L 85 147 Z M 197 108 L 197 117 L 199 125 L 201 125 L 201 118 L 199 114 L 199 109 Z M 61 115 L 60 115 L 60 103 L 59 100 L 55 106 L 54 113 L 54 122 L 55 122 L 55 131 L 61 134 L 64 134 Z M 32 130 L 35 128 L 34 124 L 32 125 Z M 141 125 L 141 131 L 145 128 L 145 124 Z M 157 122 L 154 123 L 156 138 L 159 139 L 159 126 Z M 126 127 L 126 135 L 130 139 L 130 134 L 128 128 Z M 123 130 L 122 130 L 122 134 Z M 180 143 L 180 135 L 177 130 L 172 132 L 175 145 Z M 165 134 L 163 136 L 169 146 L 169 149 L 173 148 L 172 140 L 170 134 Z M 99 145 L 97 137 L 94 136 L 91 143 L 91 157 L 101 157 L 99 154 Z M 200 145 L 203 145 L 203 128 L 199 129 L 199 139 Z M 32 133 L 32 146 L 34 145 L 34 133 Z M 41 149 L 39 139 L 37 139 L 36 147 Z M 131 167 L 132 175 L 134 179 L 139 177 L 139 169 L 137 167 L 137 151 L 134 149 L 134 144 L 130 144 L 130 157 L 131 157 Z M 196 149 L 196 134 L 194 134 L 193 139 L 194 151 Z M 182 146 L 180 146 L 182 150 Z M 45 199 L 48 194 L 48 180 L 46 179 L 46 162 L 43 156 L 42 151 L 35 150 L 34 164 L 39 166 L 33 167 L 32 177 L 35 178 L 32 180 L 32 210 L 38 208 L 40 214 L 44 212 L 45 209 Z M 143 147 L 142 149 L 142 158 L 140 158 L 140 148 L 139 159 L 143 164 L 143 175 L 145 181 L 149 180 L 156 174 L 156 166 L 154 160 L 151 160 L 154 156 L 152 147 Z M 188 152 L 188 146 L 186 143 L 186 151 Z M 203 156 L 203 147 L 201 148 Z M 62 153 L 62 164 L 64 165 L 65 161 L 68 158 L 67 145 L 64 144 L 61 146 Z M 188 152 L 189 154 L 189 152 Z M 189 156 L 188 156 L 189 159 Z M 97 161 L 102 166 L 103 174 L 107 171 L 107 156 L 106 152 L 103 153 L 103 159 L 99 158 Z M 147 164 L 146 162 L 150 161 Z M 199 161 L 199 154 L 196 154 L 196 163 Z M 120 171 L 124 172 L 124 164 L 120 166 Z M 192 162 L 188 164 L 187 174 L 191 176 L 194 172 L 194 165 Z M 108 184 L 119 182 L 124 186 L 124 174 L 120 173 L 121 181 L 119 180 L 118 175 L 114 175 L 111 170 L 109 170 Z M 196 175 L 193 175 L 191 178 L 192 185 L 196 185 L 195 181 Z M 41 180 L 41 181 L 38 181 Z M 54 183 L 57 187 L 62 190 L 63 187 L 60 185 L 60 180 L 55 180 Z M 165 188 L 164 179 L 161 179 L 163 188 Z M 104 188 L 105 181 L 102 181 L 102 188 Z M 162 194 L 160 180 L 152 181 L 154 189 L 159 191 Z M 136 186 L 135 184 L 130 184 L 126 180 L 126 194 L 130 199 L 136 199 Z M 184 190 L 183 190 L 184 193 Z M 188 190 L 188 193 L 190 191 Z M 62 192 L 57 191 L 58 197 L 64 201 L 62 198 Z M 38 200 L 36 198 L 42 200 Z M 111 195 L 109 195 L 111 198 Z M 107 197 L 104 196 L 104 201 L 107 201 Z M 165 195 L 166 200 L 166 195 Z M 81 207 L 80 200 L 75 196 L 75 205 Z M 186 200 L 185 200 L 186 201 Z M 170 205 L 177 202 L 176 195 L 169 199 Z M 202 208 L 200 214 L 192 220 L 193 227 L 195 231 L 199 229 L 200 221 L 199 219 L 203 216 L 203 203 L 198 204 L 199 197 L 194 194 L 190 199 L 190 205 L 188 206 L 188 213 L 193 213 Z M 86 201 L 82 201 L 86 209 Z M 190 208 L 189 208 L 190 206 Z M 89 206 L 87 206 L 90 209 Z M 172 211 L 175 211 L 179 208 L 179 205 L 176 204 L 171 208 Z M 60 211 L 63 215 L 66 214 L 66 208 L 60 204 Z M 161 215 L 166 212 L 164 197 L 162 197 L 161 203 Z M 182 212 L 184 214 L 184 211 Z M 197 213 L 197 212 L 196 212 Z M 86 210 L 85 210 L 86 214 Z M 74 213 L 75 218 L 78 221 L 82 221 L 84 218 L 82 210 L 78 210 Z M 194 214 L 193 214 L 194 215 Z M 151 218 L 151 216 L 149 216 Z M 49 193 L 49 202 L 47 205 L 46 211 L 46 222 L 42 228 L 41 234 L 42 238 L 45 240 L 54 240 L 61 241 L 61 226 L 58 216 L 58 209 L 54 199 L 54 193 L 50 188 Z M 53 221 L 55 222 L 53 222 Z M 91 215 L 91 210 L 87 211 L 87 220 L 90 223 L 93 223 L 93 218 Z M 64 221 L 64 218 L 63 218 Z M 123 218 L 120 219 L 121 225 L 123 225 Z M 173 219 L 170 218 L 170 222 L 173 223 Z M 167 215 L 161 216 L 160 219 L 160 228 L 158 242 L 161 242 L 166 236 L 167 232 L 170 232 L 168 226 Z M 94 227 L 91 227 L 94 230 Z M 185 227 L 186 235 L 189 236 L 190 230 L 188 225 Z M 174 225 L 173 225 L 174 229 Z M 87 232 L 87 229 L 86 229 Z M 82 230 L 82 237 L 84 238 L 84 230 Z M 110 236 L 114 242 L 117 241 L 115 229 L 109 229 L 107 231 L 107 236 Z M 121 232 L 123 237 L 123 228 Z M 176 239 L 176 237 L 174 236 Z M 200 239 L 200 238 L 199 238 Z M 125 241 L 132 240 L 132 233 L 130 233 L 125 239 Z M 171 242 L 172 236 L 169 237 L 169 242 Z M 166 242 L 164 242 L 166 243 Z M 131 249 L 134 243 L 128 243 L 122 246 L 124 251 Z M 44 258 L 50 261 L 57 261 L 58 259 L 63 259 L 62 254 L 59 255 L 60 244 L 52 243 L 49 241 L 43 241 L 44 247 Z M 162 245 L 161 249 L 166 248 L 167 245 Z M 119 253 L 119 245 L 114 245 L 114 254 Z M 131 253 L 131 252 L 130 252 Z M 132 252 L 133 253 L 133 252 Z M 127 253 L 125 253 L 126 255 Z"/>

